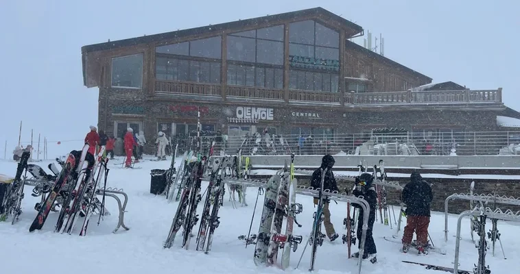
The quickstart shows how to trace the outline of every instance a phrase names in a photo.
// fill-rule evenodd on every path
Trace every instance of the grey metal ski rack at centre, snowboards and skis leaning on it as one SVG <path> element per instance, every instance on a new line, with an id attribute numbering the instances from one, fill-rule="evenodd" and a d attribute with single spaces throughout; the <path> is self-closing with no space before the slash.
<path id="1" fill-rule="evenodd" d="M 295 171 L 296 173 L 296 171 Z M 222 179 L 222 182 L 225 184 L 237 184 L 240 186 L 255 186 L 259 188 L 266 188 L 267 187 L 267 181 L 260 181 L 258 179 L 252 180 L 252 179 L 236 179 L 236 178 L 224 178 Z M 311 196 L 311 197 L 318 197 L 320 193 L 319 188 L 312 188 L 307 186 L 298 186 L 296 188 L 296 194 L 299 195 L 305 195 L 305 196 Z M 329 190 L 323 190 L 322 195 L 325 197 L 328 197 L 329 199 L 333 201 L 344 201 L 344 202 L 350 202 L 350 203 L 357 203 L 359 206 L 363 208 L 363 226 L 362 226 L 362 239 L 361 239 L 361 247 L 359 248 L 359 253 L 364 253 L 365 249 L 365 238 L 366 238 L 366 229 L 368 229 L 368 216 L 370 214 L 370 206 L 368 205 L 368 202 L 365 201 L 362 198 L 355 197 L 353 195 L 347 195 L 345 192 L 340 193 L 338 191 L 329 191 Z M 361 266 L 363 262 L 363 256 L 359 256 L 359 262 L 358 262 L 358 274 L 361 274 Z"/>

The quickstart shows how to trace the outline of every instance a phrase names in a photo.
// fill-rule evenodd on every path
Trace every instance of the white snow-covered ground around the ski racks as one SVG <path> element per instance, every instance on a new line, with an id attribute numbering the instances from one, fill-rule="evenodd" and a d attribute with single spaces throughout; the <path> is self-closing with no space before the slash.
<path id="1" fill-rule="evenodd" d="M 169 161 L 145 161 L 137 166 L 142 169 L 121 169 L 109 163 L 108 186 L 123 188 L 128 193 L 129 202 L 125 223 L 130 230 L 119 229 L 116 234 L 111 233 L 117 225 L 117 205 L 111 198 L 107 198 L 107 208 L 112 213 L 105 217 L 97 226 L 97 217 L 91 219 L 88 234 L 80 237 L 76 234 L 55 234 L 54 224 L 56 213 L 51 213 L 41 231 L 29 233 L 29 225 L 36 216 L 34 203 L 39 201 L 30 195 L 32 188 L 25 190 L 23 199 L 23 214 L 18 223 L 0 223 L 0 258 L 1 273 L 45 273 L 70 271 L 71 273 L 283 273 L 276 267 L 260 269 L 255 266 L 252 256 L 254 246 L 245 247 L 245 242 L 237 240 L 237 236 L 247 234 L 257 189 L 249 188 L 248 207 L 233 209 L 228 196 L 224 199 L 224 207 L 220 210 L 221 223 L 215 231 L 213 247 L 209 254 L 195 251 L 195 240 L 191 241 L 190 250 L 180 248 L 180 237 L 174 242 L 171 249 L 163 249 L 163 240 L 172 223 L 177 203 L 167 203 L 165 197 L 150 194 L 150 170 L 167 169 Z M 41 162 L 47 166 L 50 161 Z M 46 168 L 45 168 L 46 169 Z M 0 173 L 14 176 L 16 163 L 0 161 Z M 206 185 L 203 185 L 202 192 Z M 303 227 L 294 228 L 295 234 L 303 235 L 307 242 L 311 232 L 314 204 L 311 197 L 298 196 L 298 202 L 303 203 L 303 213 L 298 215 L 298 222 Z M 263 196 L 259 199 L 255 220 L 252 224 L 252 234 L 258 232 L 259 216 L 261 215 Z M 198 210 L 202 208 L 202 203 Z M 395 208 L 396 214 L 398 208 Z M 338 234 L 344 233 L 343 219 L 346 215 L 346 204 L 331 203 L 332 222 Z M 393 215 L 392 215 L 393 217 Z M 424 266 L 405 264 L 401 260 L 437 264 L 453 267 L 457 216 L 449 216 L 449 240 L 444 241 L 444 215 L 432 212 L 432 221 L 429 234 L 436 246 L 447 250 L 447 255 L 430 252 L 427 256 L 418 256 L 414 252 L 403 254 L 399 252 L 401 245 L 388 242 L 383 236 L 390 237 L 394 231 L 390 227 L 376 223 L 374 227 L 375 242 L 377 244 L 376 264 L 364 262 L 362 273 L 399 273 L 420 274 L 436 273 L 426 270 Z M 392 220 L 393 222 L 393 220 Z M 395 228 L 395 225 L 392 223 Z M 404 226 L 404 223 L 403 223 Z M 488 222 L 486 229 L 491 228 Z M 504 260 L 499 245 L 493 257 L 491 250 L 486 256 L 492 273 L 516 273 L 520 269 L 520 227 L 499 221 L 499 232 L 504 243 L 504 250 L 508 260 Z M 196 233 L 198 226 L 193 228 Z M 285 230 L 284 230 L 285 231 Z M 402 229 L 399 237 L 402 236 Z M 307 273 L 309 269 L 310 251 L 307 248 L 303 260 L 297 270 L 294 270 L 304 245 L 300 245 L 292 253 L 292 268 L 287 272 Z M 357 260 L 348 259 L 346 245 L 341 239 L 335 242 L 325 240 L 322 247 L 318 247 L 315 269 L 319 273 L 357 273 Z M 357 248 L 353 247 L 353 252 Z M 414 250 L 414 249 L 412 249 Z M 469 238 L 469 219 L 462 222 L 462 240 L 460 249 L 460 269 L 471 271 L 477 263 L 477 249 Z M 515 270 L 516 269 L 516 270 Z"/>

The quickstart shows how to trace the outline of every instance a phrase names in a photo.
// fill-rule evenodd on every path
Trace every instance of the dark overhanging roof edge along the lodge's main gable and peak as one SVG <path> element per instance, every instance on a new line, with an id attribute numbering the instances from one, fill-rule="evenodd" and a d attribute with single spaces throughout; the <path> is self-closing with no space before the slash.
<path id="1" fill-rule="evenodd" d="M 221 23 L 217 25 L 209 25 L 205 27 L 196 27 L 192 29 L 182 29 L 176 32 L 165 32 L 163 34 L 153 34 L 149 36 L 142 36 L 137 38 L 129 38 L 124 40 L 103 42 L 100 44 L 87 45 L 82 47 L 83 53 L 88 53 L 91 51 L 102 51 L 106 49 L 117 49 L 119 47 L 130 47 L 134 45 L 147 44 L 150 42 L 155 42 L 159 40 L 168 40 L 174 38 L 180 38 L 185 36 L 193 36 L 193 35 L 202 35 L 217 31 L 224 31 L 227 29 L 240 29 L 242 27 L 248 27 L 252 25 L 260 25 L 265 24 L 270 21 L 282 21 L 282 20 L 291 20 L 305 16 L 319 15 L 328 20 L 338 21 L 340 24 L 344 25 L 346 28 L 350 28 L 353 31 L 351 33 L 346 34 L 346 38 L 350 38 L 355 36 L 355 34 L 359 34 L 363 32 L 363 28 L 351 21 L 346 20 L 345 18 L 333 14 L 324 8 L 311 8 L 307 10 L 298 10 L 296 12 L 285 12 L 281 14 L 274 14 L 269 16 L 262 16 L 257 18 L 250 18 L 246 20 L 233 21 L 229 23 Z"/>

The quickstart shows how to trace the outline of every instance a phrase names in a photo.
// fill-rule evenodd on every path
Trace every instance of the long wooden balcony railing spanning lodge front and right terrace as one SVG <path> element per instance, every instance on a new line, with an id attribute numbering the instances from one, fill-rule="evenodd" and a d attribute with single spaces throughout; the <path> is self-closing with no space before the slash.
<path id="1" fill-rule="evenodd" d="M 222 98 L 222 85 L 190 82 L 155 82 L 156 95 L 184 97 Z M 285 92 L 287 92 L 287 97 Z M 286 99 L 292 105 L 344 105 L 348 107 L 440 107 L 453 105 L 497 106 L 502 103 L 502 90 L 447 90 L 447 91 L 397 91 L 397 92 L 320 92 L 307 90 L 277 90 L 251 86 L 226 86 L 226 100 L 275 101 Z"/>

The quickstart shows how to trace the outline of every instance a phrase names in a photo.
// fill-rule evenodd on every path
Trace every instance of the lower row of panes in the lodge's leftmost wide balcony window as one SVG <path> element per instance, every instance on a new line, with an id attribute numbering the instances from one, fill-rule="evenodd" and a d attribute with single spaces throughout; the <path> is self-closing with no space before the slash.
<path id="1" fill-rule="evenodd" d="M 220 83 L 220 62 L 158 56 L 155 73 L 156 78 L 160 80 Z"/>

